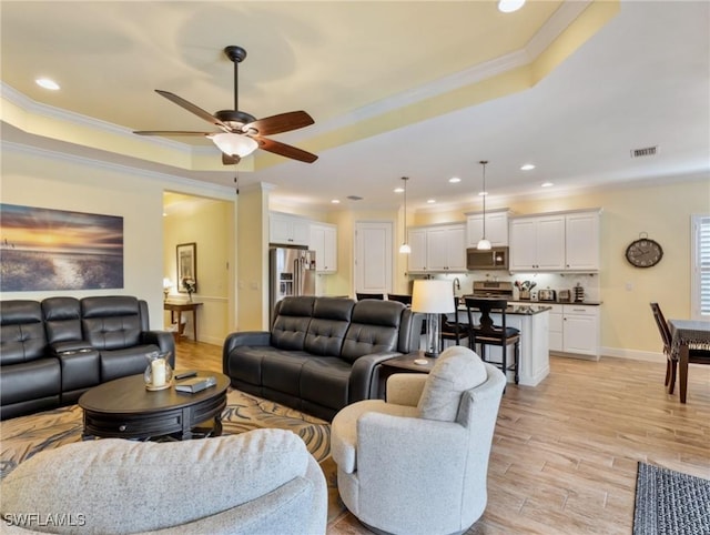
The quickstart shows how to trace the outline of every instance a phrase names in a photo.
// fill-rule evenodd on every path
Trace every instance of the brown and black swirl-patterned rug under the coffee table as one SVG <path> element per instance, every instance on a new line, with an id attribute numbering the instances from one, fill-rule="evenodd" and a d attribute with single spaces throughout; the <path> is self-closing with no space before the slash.
<path id="1" fill-rule="evenodd" d="M 328 485 L 328 522 L 345 506 L 337 494 L 336 466 L 331 453 L 331 425 L 278 403 L 230 390 L 222 413 L 222 434 L 235 435 L 257 428 L 291 430 L 303 438 L 323 468 Z M 81 441 L 83 411 L 79 405 L 45 411 L 0 422 L 0 478 L 38 452 Z"/>

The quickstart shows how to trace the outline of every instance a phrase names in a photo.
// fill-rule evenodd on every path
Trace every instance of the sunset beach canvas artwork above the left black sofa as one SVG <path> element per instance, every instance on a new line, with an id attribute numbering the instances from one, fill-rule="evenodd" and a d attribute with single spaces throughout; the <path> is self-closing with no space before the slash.
<path id="1" fill-rule="evenodd" d="M 123 287 L 123 218 L 0 204 L 0 291 Z"/>

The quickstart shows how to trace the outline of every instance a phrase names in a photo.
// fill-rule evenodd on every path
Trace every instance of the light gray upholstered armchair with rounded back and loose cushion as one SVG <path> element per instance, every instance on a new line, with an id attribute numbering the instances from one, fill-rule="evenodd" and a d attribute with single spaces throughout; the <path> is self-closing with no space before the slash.
<path id="1" fill-rule="evenodd" d="M 486 508 L 493 433 L 506 378 L 464 346 L 429 375 L 396 374 L 387 401 L 333 420 L 331 452 L 347 508 L 378 533 L 463 533 Z"/>

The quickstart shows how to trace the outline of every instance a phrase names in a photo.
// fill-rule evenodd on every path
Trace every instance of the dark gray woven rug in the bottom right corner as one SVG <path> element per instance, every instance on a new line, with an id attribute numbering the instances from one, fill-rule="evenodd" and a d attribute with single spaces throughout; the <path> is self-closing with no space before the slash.
<path id="1" fill-rule="evenodd" d="M 639 463 L 633 535 L 710 534 L 710 480 Z"/>

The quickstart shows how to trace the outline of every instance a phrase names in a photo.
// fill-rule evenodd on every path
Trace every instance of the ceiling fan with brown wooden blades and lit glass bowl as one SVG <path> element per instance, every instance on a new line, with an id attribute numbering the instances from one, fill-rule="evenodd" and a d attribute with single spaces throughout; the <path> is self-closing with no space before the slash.
<path id="1" fill-rule="evenodd" d="M 234 63 L 234 110 L 222 110 L 211 114 L 174 93 L 161 91 L 160 89 L 155 90 L 158 94 L 165 97 L 171 102 L 216 127 L 219 129 L 217 132 L 140 130 L 133 133 L 163 137 L 204 135 L 210 138 L 222 151 L 222 163 L 225 165 L 239 163 L 242 158 L 251 154 L 256 149 L 263 149 L 274 154 L 306 163 L 315 162 L 318 159 L 315 154 L 264 138 L 264 135 L 278 134 L 308 127 L 314 123 L 313 118 L 305 111 L 291 111 L 256 119 L 254 115 L 240 111 L 237 93 L 239 64 L 246 58 L 246 50 L 242 47 L 230 46 L 224 49 L 224 53 Z"/>

